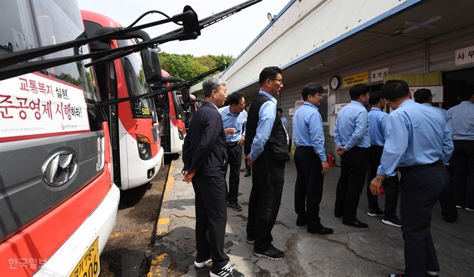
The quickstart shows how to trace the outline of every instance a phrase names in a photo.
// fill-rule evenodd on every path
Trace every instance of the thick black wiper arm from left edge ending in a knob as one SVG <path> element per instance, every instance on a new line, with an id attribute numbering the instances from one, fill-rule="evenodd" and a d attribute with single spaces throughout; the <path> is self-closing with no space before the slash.
<path id="1" fill-rule="evenodd" d="M 111 39 L 120 39 L 121 36 L 126 35 L 127 33 L 146 29 L 151 26 L 157 26 L 160 24 L 165 24 L 169 22 L 183 22 L 183 30 L 188 32 L 188 35 L 192 36 L 196 34 L 196 31 L 199 32 L 199 26 L 197 25 L 198 19 L 197 14 L 192 10 L 190 6 L 185 6 L 183 13 L 174 15 L 173 17 L 158 20 L 155 22 L 150 22 L 147 24 L 142 24 L 139 26 L 134 26 L 130 28 L 114 28 L 108 33 L 103 33 L 101 35 L 96 35 L 92 38 L 84 38 L 82 35 L 79 35 L 79 38 L 76 40 L 71 40 L 68 42 L 59 43 L 56 45 L 49 45 L 44 47 L 38 47 L 33 49 L 22 50 L 19 52 L 13 52 L 8 54 L 0 55 L 0 68 L 7 68 L 10 65 L 15 65 L 18 63 L 23 63 L 29 61 L 33 58 L 39 58 L 41 56 L 46 56 L 54 52 L 59 52 L 62 50 L 70 49 L 72 47 L 80 47 L 86 45 L 89 42 L 96 40 L 111 40 Z"/>

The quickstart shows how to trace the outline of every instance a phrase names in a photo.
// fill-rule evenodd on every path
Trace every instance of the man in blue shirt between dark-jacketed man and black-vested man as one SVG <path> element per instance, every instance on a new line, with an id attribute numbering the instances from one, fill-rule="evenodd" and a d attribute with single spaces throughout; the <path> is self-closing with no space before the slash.
<path id="1" fill-rule="evenodd" d="M 237 212 L 242 211 L 238 205 L 238 183 L 240 182 L 240 164 L 242 164 L 242 148 L 245 141 L 245 128 L 247 123 L 247 113 L 245 108 L 245 98 L 243 93 L 232 93 L 229 96 L 229 106 L 219 109 L 224 124 L 225 140 L 227 143 L 227 161 L 231 171 L 229 173 L 229 193 L 227 193 L 227 205 Z M 244 129 L 244 130 L 243 130 Z M 227 175 L 226 167 L 225 174 Z"/>

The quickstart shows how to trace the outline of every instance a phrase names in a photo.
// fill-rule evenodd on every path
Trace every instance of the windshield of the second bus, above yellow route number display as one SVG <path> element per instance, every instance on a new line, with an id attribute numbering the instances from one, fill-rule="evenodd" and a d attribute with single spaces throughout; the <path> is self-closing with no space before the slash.
<path id="1" fill-rule="evenodd" d="M 119 47 L 128 46 L 132 40 L 117 40 Z M 129 96 L 143 95 L 151 91 L 146 83 L 142 65 L 142 58 L 139 53 L 132 53 L 122 58 L 123 68 L 127 77 Z M 135 117 L 151 118 L 154 113 L 153 102 L 150 99 L 140 99 L 130 101 Z"/>

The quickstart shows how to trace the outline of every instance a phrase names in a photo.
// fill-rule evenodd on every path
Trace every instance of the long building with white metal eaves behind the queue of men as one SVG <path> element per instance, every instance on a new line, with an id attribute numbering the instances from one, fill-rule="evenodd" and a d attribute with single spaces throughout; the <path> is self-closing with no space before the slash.
<path id="1" fill-rule="evenodd" d="M 261 70 L 279 66 L 278 106 L 290 121 L 301 88 L 321 84 L 326 151 L 334 152 L 337 110 L 353 84 L 378 90 L 384 79 L 404 79 L 413 90 L 429 86 L 445 109 L 458 103 L 457 86 L 474 84 L 473 12 L 472 0 L 292 0 L 221 77 L 228 94 L 249 101 Z"/>

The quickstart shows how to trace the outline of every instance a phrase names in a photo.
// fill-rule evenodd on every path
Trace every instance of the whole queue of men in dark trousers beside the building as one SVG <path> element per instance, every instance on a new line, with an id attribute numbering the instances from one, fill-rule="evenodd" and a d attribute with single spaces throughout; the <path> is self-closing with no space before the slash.
<path id="1" fill-rule="evenodd" d="M 288 127 L 277 114 L 282 70 L 264 68 L 259 85 L 248 112 L 244 111 L 242 93 L 233 93 L 229 106 L 218 109 L 226 100 L 227 84 L 218 77 L 206 79 L 206 102 L 195 113 L 185 137 L 183 180 L 192 182 L 196 193 L 194 265 L 204 267 L 212 260 L 211 276 L 243 276 L 224 253 L 226 203 L 238 212 L 242 210 L 237 199 L 242 145 L 248 166 L 245 175 L 252 174 L 245 240 L 253 245 L 257 257 L 285 258 L 285 253 L 273 246 L 271 235 L 289 160 Z M 323 91 L 318 84 L 305 86 L 301 92 L 305 102 L 293 116 L 297 172 L 294 203 L 296 225 L 307 226 L 310 233 L 328 235 L 333 230 L 325 227 L 319 217 L 323 180 L 329 171 L 318 110 Z M 339 111 L 334 129 L 337 154 L 341 155 L 335 216 L 342 217 L 344 225 L 368 227 L 357 218 L 367 178 L 367 215 L 381 216 L 383 223 L 402 228 L 405 274 L 389 276 L 437 276 L 440 268 L 431 239 L 431 209 L 439 200 L 448 222 L 457 219 L 459 208 L 474 211 L 474 87 L 461 88 L 461 104 L 448 113 L 415 103 L 408 84 L 402 80 L 387 81 L 381 91 L 372 93 L 364 84 L 358 84 L 349 94 L 351 104 Z M 415 100 L 418 96 L 415 94 Z M 365 106 L 369 103 L 372 109 L 367 112 Z M 393 109 L 390 115 L 382 111 L 385 103 Z M 454 164 L 454 182 L 448 175 L 450 163 Z M 382 187 L 385 211 L 377 200 Z M 396 215 L 399 195 L 401 219 Z"/>

